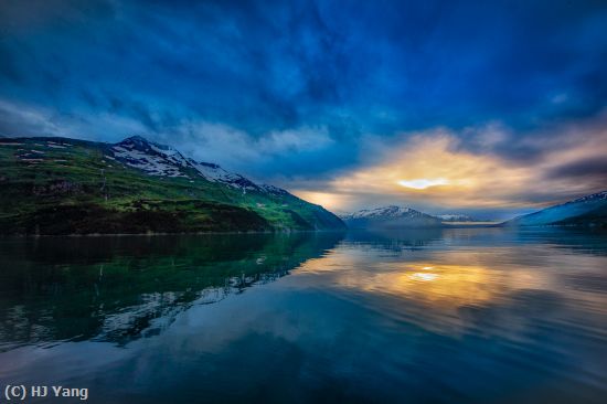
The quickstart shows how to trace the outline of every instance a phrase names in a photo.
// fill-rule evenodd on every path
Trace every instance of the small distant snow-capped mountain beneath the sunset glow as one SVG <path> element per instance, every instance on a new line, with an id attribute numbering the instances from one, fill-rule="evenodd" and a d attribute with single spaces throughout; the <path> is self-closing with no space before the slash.
<path id="1" fill-rule="evenodd" d="M 439 227 L 441 221 L 429 214 L 411 208 L 384 206 L 364 209 L 341 219 L 351 228 L 409 228 L 409 227 Z"/>

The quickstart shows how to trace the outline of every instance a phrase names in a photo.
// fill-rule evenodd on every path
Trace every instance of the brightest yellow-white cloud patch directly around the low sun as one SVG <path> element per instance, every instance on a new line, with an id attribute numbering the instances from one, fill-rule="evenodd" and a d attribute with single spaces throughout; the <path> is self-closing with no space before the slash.
<path id="1" fill-rule="evenodd" d="M 402 136 L 386 145 L 380 163 L 336 178 L 331 188 L 340 193 L 366 195 L 366 200 L 391 195 L 401 203 L 512 205 L 514 202 L 508 201 L 504 193 L 520 189 L 529 180 L 526 170 L 488 155 L 458 150 L 459 142 L 446 129 Z M 430 185 L 403 187 L 420 182 Z"/>

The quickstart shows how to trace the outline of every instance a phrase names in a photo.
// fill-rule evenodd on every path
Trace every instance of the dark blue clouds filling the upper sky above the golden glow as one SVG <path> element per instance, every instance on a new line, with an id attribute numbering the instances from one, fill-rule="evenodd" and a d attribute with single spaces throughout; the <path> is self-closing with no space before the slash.
<path id="1" fill-rule="evenodd" d="M 4 111 L 1 134 L 328 130 L 330 146 L 268 157 L 259 176 L 355 164 L 361 134 L 494 120 L 523 137 L 607 99 L 605 1 L 7 1 L 0 15 L 2 102 L 56 124 Z"/>

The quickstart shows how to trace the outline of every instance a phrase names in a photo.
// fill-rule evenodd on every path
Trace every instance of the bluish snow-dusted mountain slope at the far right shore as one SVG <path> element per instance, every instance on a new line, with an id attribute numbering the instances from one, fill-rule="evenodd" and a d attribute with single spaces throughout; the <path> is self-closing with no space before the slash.
<path id="1" fill-rule="evenodd" d="M 509 226 L 607 226 L 607 191 L 586 195 L 504 222 Z"/>

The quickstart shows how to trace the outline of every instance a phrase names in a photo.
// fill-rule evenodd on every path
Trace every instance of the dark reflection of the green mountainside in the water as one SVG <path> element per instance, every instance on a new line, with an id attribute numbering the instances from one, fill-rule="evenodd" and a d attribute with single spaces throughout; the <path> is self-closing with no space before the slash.
<path id="1" fill-rule="evenodd" d="M 191 305 L 285 276 L 340 233 L 6 240 L 0 351 L 56 341 L 125 344 Z"/>

